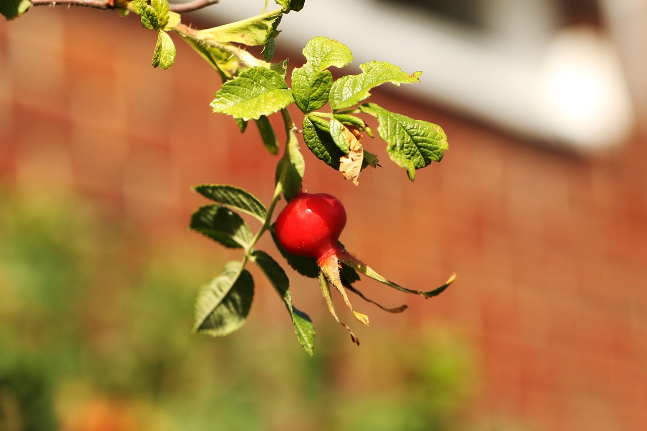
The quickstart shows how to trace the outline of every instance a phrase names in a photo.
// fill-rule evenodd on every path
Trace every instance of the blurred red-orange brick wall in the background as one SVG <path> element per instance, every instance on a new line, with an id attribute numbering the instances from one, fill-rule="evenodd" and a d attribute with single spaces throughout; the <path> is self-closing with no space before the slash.
<path id="1" fill-rule="evenodd" d="M 154 45 L 136 18 L 111 12 L 34 8 L 0 23 L 0 180 L 73 190 L 151 241 L 213 250 L 186 232 L 204 203 L 190 186 L 236 184 L 267 201 L 276 157 L 253 125 L 240 135 L 210 113 L 219 78 L 206 63 L 177 41 L 176 65 L 152 69 Z M 646 142 L 582 157 L 389 93 L 375 102 L 441 124 L 443 162 L 412 184 L 375 140 L 366 146 L 383 168 L 358 187 L 309 154 L 305 185 L 344 201 L 344 243 L 383 274 L 418 287 L 459 274 L 389 322 L 461 328 L 479 351 L 479 414 L 545 430 L 647 429 Z"/>

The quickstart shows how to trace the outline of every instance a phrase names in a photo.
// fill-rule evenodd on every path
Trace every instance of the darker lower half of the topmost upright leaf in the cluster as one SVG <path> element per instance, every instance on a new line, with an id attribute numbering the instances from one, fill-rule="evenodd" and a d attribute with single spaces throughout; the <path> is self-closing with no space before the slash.
<path id="1" fill-rule="evenodd" d="M 294 102 L 303 113 L 309 113 L 325 105 L 332 87 L 333 74 L 330 71 L 318 72 L 309 65 L 292 70 Z"/>

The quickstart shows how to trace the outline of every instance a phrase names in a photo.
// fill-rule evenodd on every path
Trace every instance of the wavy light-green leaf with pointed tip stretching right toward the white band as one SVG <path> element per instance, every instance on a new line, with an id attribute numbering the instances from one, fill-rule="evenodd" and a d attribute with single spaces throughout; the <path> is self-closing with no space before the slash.
<path id="1" fill-rule="evenodd" d="M 345 109 L 359 104 L 362 100 L 371 95 L 369 91 L 383 83 L 401 83 L 419 82 L 418 78 L 421 72 L 408 74 L 394 65 L 385 61 L 370 61 L 360 65 L 362 73 L 358 75 L 342 76 L 333 84 L 330 92 L 330 106 L 333 110 Z"/>

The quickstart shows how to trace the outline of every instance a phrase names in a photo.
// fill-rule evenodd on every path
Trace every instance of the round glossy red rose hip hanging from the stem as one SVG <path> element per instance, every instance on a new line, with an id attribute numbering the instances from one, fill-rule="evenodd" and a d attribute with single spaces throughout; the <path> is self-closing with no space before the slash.
<path id="1" fill-rule="evenodd" d="M 344 205 L 326 193 L 299 193 L 276 219 L 276 238 L 285 251 L 322 260 L 336 254 L 346 225 Z"/>

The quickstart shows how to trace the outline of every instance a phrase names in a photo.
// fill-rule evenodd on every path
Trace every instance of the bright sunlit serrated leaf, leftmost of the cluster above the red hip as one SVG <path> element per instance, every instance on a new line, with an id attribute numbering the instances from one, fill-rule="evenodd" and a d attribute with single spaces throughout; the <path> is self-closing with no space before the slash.
<path id="1" fill-rule="evenodd" d="M 258 120 L 261 115 L 275 113 L 292 102 L 292 90 L 280 74 L 264 67 L 252 67 L 225 82 L 215 93 L 211 106 L 217 113 Z"/>

